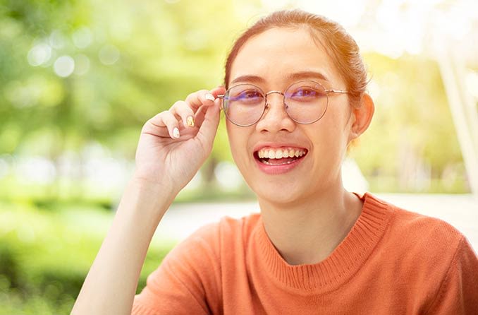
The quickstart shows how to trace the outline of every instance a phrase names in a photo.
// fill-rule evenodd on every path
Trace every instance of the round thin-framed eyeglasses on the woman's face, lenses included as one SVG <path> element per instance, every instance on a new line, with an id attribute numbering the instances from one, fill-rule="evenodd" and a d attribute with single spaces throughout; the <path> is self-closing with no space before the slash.
<path id="1" fill-rule="evenodd" d="M 298 124 L 312 124 L 321 119 L 329 104 L 329 93 L 348 93 L 346 90 L 326 89 L 324 85 L 310 80 L 295 82 L 281 91 L 264 93 L 256 85 L 241 83 L 229 88 L 223 95 L 222 109 L 227 119 L 237 126 L 256 124 L 269 108 L 267 96 L 273 93 L 283 95 L 286 113 Z"/>

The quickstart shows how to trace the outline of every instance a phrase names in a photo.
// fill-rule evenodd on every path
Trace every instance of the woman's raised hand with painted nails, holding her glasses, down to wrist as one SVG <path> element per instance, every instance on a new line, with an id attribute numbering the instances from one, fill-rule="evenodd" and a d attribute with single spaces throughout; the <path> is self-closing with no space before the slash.
<path id="1" fill-rule="evenodd" d="M 211 153 L 224 88 L 199 90 L 149 119 L 136 150 L 135 179 L 178 194 Z"/>

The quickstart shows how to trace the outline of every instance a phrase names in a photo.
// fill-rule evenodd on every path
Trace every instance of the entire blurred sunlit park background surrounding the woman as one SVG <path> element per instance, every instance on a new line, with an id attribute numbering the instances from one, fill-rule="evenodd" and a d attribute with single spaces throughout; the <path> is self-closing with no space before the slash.
<path id="1" fill-rule="evenodd" d="M 68 314 L 134 167 L 142 124 L 222 83 L 240 32 L 278 8 L 342 23 L 362 49 L 376 113 L 345 186 L 443 218 L 478 246 L 476 1 L 0 0 L 0 314 Z M 258 211 L 214 150 L 149 249 Z"/>

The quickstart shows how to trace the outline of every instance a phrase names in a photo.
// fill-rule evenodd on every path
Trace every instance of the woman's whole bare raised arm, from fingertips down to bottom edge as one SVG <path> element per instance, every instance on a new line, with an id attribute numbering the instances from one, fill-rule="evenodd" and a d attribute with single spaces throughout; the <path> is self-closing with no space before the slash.
<path id="1" fill-rule="evenodd" d="M 135 174 L 71 314 L 130 314 L 154 230 L 211 153 L 223 91 L 192 93 L 143 126 Z"/>

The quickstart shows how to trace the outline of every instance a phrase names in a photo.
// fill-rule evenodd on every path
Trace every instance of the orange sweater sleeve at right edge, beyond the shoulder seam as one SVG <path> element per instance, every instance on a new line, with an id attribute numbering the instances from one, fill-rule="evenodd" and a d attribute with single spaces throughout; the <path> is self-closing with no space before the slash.
<path id="1" fill-rule="evenodd" d="M 465 237 L 427 314 L 478 314 L 478 257 Z"/>

